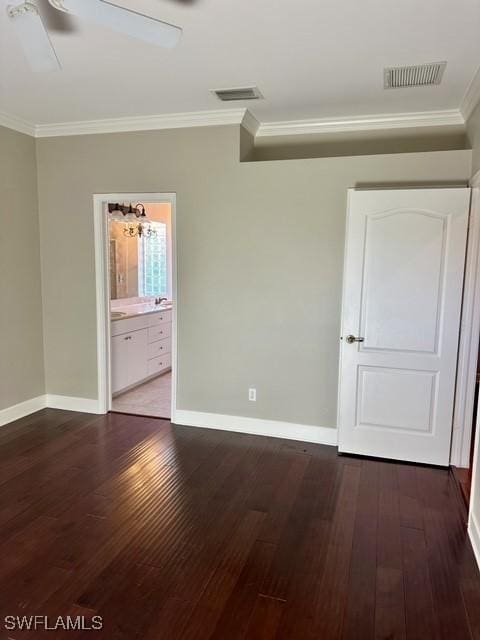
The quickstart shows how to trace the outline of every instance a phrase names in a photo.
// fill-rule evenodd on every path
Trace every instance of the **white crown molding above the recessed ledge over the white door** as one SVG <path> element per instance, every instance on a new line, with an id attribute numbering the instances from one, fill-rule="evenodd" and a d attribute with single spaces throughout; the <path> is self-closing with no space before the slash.
<path id="1" fill-rule="evenodd" d="M 356 118 L 321 118 L 267 122 L 260 125 L 257 137 L 378 131 L 380 129 L 439 127 L 464 124 L 465 119 L 460 110 L 449 109 L 444 111 L 418 111 L 413 113 L 359 116 Z"/>

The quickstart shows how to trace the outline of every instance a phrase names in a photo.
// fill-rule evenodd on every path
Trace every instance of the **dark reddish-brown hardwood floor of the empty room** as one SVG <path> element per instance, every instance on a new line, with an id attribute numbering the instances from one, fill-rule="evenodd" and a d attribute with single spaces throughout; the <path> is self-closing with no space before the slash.
<path id="1" fill-rule="evenodd" d="M 48 409 L 0 429 L 0 458 L 1 638 L 480 639 L 447 471 Z"/>

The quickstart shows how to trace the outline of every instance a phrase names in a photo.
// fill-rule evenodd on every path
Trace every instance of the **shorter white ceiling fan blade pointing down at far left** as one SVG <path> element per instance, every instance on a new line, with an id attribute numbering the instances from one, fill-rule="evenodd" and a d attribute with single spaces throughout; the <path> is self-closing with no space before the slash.
<path id="1" fill-rule="evenodd" d="M 22 2 L 9 5 L 7 13 L 32 71 L 58 71 L 60 63 L 37 7 L 31 2 Z"/>

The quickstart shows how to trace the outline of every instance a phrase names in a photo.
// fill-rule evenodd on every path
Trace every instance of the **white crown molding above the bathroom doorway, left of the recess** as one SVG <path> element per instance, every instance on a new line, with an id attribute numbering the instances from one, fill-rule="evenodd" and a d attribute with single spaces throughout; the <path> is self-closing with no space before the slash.
<path id="1" fill-rule="evenodd" d="M 125 133 L 127 131 L 157 131 L 160 129 L 182 129 L 188 127 L 213 127 L 241 124 L 246 109 L 216 109 L 214 111 L 191 111 L 157 116 L 109 118 L 106 120 L 81 120 L 40 124 L 35 127 L 36 138 L 59 136 L 82 136 L 98 133 Z"/>

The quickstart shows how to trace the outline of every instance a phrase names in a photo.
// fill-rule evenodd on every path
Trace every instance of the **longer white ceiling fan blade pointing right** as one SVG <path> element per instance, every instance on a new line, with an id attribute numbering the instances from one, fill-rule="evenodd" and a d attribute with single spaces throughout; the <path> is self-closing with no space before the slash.
<path id="1" fill-rule="evenodd" d="M 136 11 L 118 7 L 104 0 L 48 0 L 60 11 L 101 24 L 112 31 L 138 38 L 161 47 L 172 48 L 182 35 L 182 29 Z"/>

